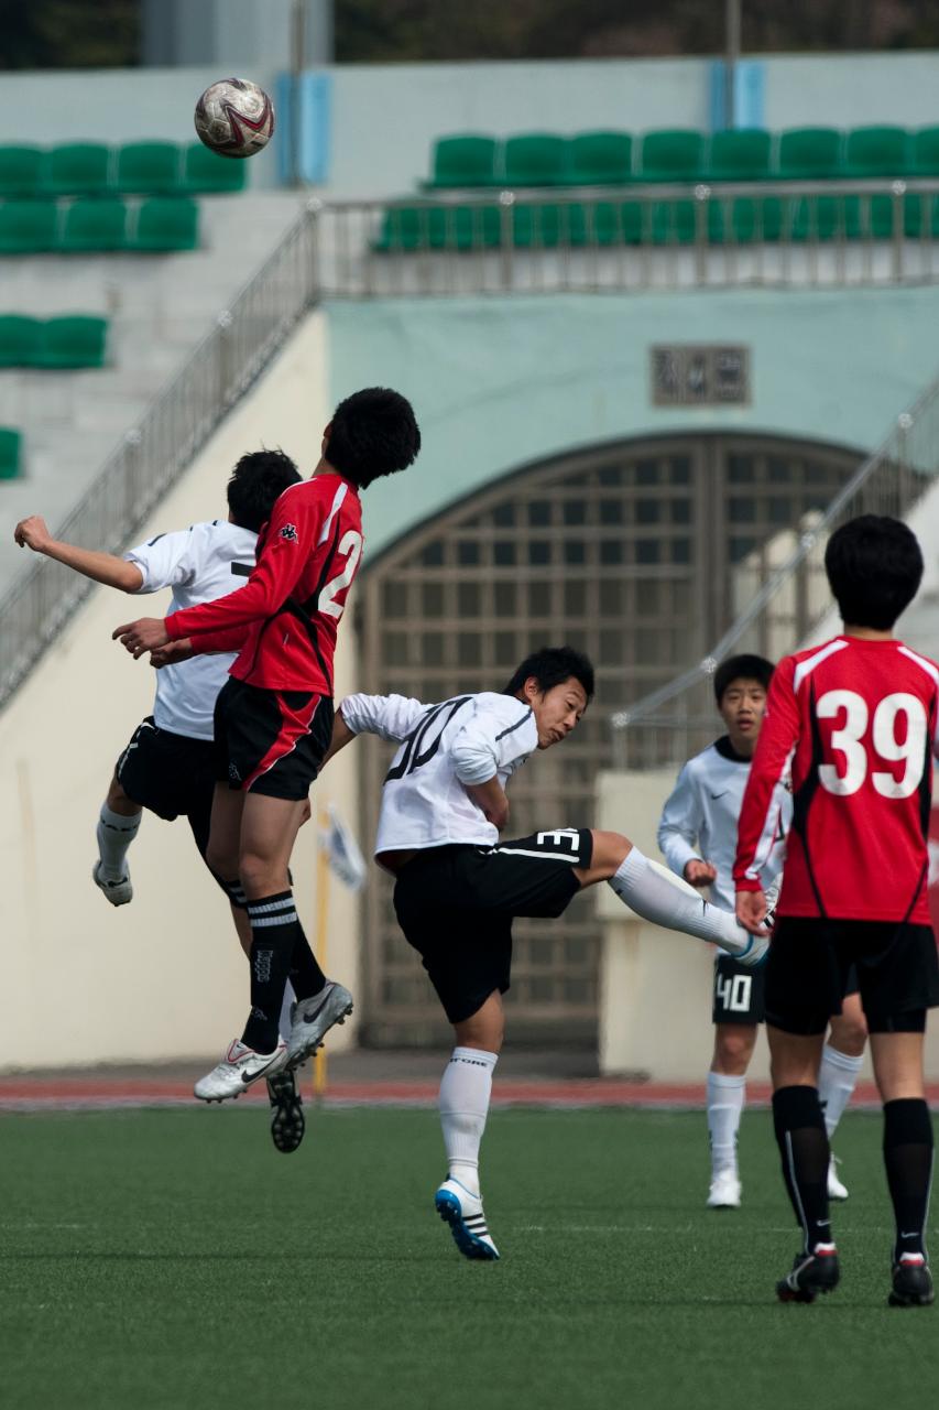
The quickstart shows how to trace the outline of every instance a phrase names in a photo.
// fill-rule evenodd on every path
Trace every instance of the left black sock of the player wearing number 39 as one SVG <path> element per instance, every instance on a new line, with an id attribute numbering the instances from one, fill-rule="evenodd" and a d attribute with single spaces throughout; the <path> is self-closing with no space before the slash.
<path id="1" fill-rule="evenodd" d="M 795 1218 L 805 1235 L 805 1252 L 832 1242 L 828 1217 L 830 1152 L 818 1087 L 780 1087 L 773 1093 L 773 1124 L 782 1158 L 782 1179 Z"/>

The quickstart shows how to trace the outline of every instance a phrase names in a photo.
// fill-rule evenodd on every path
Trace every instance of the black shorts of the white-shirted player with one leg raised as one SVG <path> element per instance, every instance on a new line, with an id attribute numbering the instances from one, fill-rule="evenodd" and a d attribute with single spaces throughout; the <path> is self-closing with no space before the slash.
<path id="1" fill-rule="evenodd" d="M 493 847 L 447 846 L 419 852 L 398 874 L 395 912 L 422 957 L 451 1024 L 509 988 L 512 921 L 558 916 L 589 867 L 587 828 L 557 828 Z"/>

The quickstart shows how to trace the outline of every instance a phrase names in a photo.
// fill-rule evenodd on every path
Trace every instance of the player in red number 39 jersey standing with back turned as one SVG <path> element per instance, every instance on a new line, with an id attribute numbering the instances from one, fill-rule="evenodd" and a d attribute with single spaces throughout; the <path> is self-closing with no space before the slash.
<path id="1" fill-rule="evenodd" d="M 818 1069 L 828 1017 L 839 1012 L 846 971 L 856 964 L 897 1218 L 890 1303 L 925 1306 L 933 1299 L 923 1242 L 933 1132 L 922 1053 L 926 1011 L 939 1004 L 926 830 L 939 666 L 892 634 L 922 578 L 922 553 L 907 525 L 874 515 L 850 520 L 832 534 L 825 570 L 845 630 L 775 670 L 733 873 L 737 918 L 760 933 L 773 787 L 791 770 L 794 816 L 766 1018 L 775 1138 L 805 1246 L 777 1293 L 811 1303 L 839 1279 Z"/>

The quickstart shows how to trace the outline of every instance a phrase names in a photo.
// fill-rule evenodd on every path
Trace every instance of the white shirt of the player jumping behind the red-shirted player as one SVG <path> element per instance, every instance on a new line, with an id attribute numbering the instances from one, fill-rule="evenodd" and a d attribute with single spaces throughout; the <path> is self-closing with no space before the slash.
<path id="1" fill-rule="evenodd" d="M 254 568 L 258 536 L 250 529 L 213 519 L 179 533 L 156 534 L 124 557 L 144 574 L 138 592 L 172 588 L 169 612 L 179 612 L 244 587 Z M 216 697 L 234 658 L 234 651 L 195 656 L 158 671 L 154 704 L 158 728 L 211 740 Z"/>

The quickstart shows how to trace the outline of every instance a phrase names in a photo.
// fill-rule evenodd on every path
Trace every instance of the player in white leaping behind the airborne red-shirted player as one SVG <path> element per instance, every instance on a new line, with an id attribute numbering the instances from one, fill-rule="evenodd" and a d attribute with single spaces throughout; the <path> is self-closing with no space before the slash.
<path id="1" fill-rule="evenodd" d="M 21 520 L 14 539 L 94 582 L 123 592 L 172 589 L 171 611 L 214 602 L 247 582 L 255 563 L 258 532 L 279 495 L 297 484 L 296 465 L 283 451 L 252 451 L 234 467 L 227 486 L 228 519 L 192 525 L 130 548 L 123 557 L 79 548 L 54 539 L 38 515 Z M 159 818 L 185 816 L 199 854 L 206 856 L 214 795 L 213 715 L 235 653 L 200 656 L 165 666 L 156 675 L 154 713 L 134 730 L 109 784 L 97 821 L 99 856 L 92 878 L 111 905 L 134 895 L 127 852 L 144 808 Z M 217 878 L 216 878 L 217 880 Z M 220 883 L 221 884 L 221 883 Z M 251 949 L 245 900 L 223 885 L 231 902 L 238 940 Z M 279 1151 L 295 1151 L 303 1136 L 303 1111 L 292 1074 L 268 1084 L 272 1136 Z"/>

